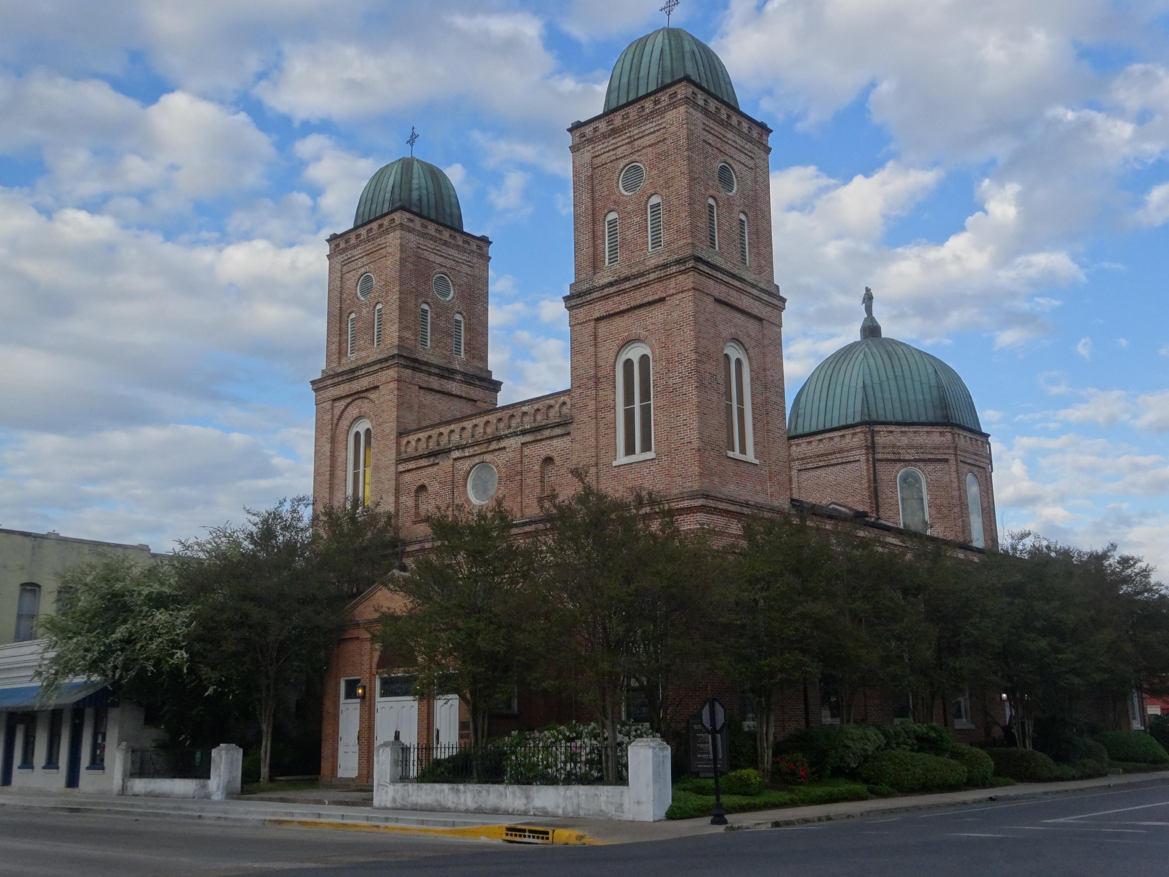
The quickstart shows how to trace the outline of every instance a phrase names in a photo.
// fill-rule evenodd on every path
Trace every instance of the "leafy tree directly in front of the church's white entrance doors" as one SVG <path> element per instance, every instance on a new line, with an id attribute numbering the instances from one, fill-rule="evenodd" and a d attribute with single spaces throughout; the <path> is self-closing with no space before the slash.
<path id="1" fill-rule="evenodd" d="M 436 545 L 388 587 L 400 612 L 380 616 L 383 649 L 413 662 L 420 692 L 454 691 L 483 743 L 492 709 L 511 699 L 532 652 L 532 551 L 496 504 L 427 518 Z"/>

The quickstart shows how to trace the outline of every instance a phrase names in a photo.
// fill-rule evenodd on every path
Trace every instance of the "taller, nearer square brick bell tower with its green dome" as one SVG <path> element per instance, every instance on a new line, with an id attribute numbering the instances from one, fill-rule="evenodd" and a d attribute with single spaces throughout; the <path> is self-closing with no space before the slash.
<path id="1" fill-rule="evenodd" d="M 569 132 L 574 464 L 696 511 L 786 507 L 770 129 L 710 47 L 662 28 Z"/>

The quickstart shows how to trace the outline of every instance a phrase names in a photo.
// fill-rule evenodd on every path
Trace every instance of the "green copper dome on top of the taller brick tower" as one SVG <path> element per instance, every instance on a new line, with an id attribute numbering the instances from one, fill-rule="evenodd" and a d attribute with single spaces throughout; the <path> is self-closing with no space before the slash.
<path id="1" fill-rule="evenodd" d="M 734 85 L 714 50 L 680 27 L 664 27 L 634 40 L 621 53 L 609 77 L 604 111 L 624 106 L 684 76 L 739 109 Z"/>

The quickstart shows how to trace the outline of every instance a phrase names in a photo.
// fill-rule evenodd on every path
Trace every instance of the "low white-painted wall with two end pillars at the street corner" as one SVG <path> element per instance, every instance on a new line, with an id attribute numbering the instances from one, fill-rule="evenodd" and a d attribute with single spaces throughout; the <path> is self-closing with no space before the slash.
<path id="1" fill-rule="evenodd" d="M 643 739 L 629 745 L 628 786 L 510 786 L 402 782 L 406 745 L 389 740 L 374 752 L 373 806 L 402 810 L 577 816 L 655 822 L 670 807 L 670 746 Z"/>

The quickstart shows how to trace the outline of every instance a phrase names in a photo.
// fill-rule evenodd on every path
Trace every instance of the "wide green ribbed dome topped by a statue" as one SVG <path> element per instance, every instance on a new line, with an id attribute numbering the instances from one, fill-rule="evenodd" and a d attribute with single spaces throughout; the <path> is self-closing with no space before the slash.
<path id="1" fill-rule="evenodd" d="M 970 391 L 957 372 L 925 351 L 883 338 L 867 316 L 860 340 L 841 347 L 808 375 L 788 416 L 788 437 L 858 423 L 957 426 L 982 433 Z"/>

